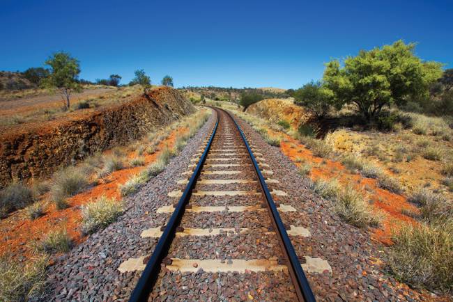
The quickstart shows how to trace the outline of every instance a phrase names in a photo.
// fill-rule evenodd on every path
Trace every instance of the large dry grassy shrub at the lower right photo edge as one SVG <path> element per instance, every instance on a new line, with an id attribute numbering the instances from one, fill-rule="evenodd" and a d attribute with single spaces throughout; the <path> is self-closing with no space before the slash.
<path id="1" fill-rule="evenodd" d="M 388 261 L 397 278 L 413 286 L 453 287 L 453 223 L 405 225 L 392 237 Z"/>

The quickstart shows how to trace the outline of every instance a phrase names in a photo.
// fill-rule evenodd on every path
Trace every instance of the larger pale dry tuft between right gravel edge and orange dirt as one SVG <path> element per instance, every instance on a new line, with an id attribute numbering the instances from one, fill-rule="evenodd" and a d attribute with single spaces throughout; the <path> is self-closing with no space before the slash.
<path id="1" fill-rule="evenodd" d="M 381 216 L 373 212 L 363 196 L 351 186 L 339 192 L 335 200 L 335 212 L 341 219 L 358 228 L 377 227 Z"/>

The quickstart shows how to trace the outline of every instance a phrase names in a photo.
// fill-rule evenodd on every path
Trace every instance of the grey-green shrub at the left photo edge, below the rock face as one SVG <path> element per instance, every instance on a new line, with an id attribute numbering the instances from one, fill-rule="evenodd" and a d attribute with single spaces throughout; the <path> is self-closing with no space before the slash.
<path id="1" fill-rule="evenodd" d="M 0 217 L 22 209 L 33 202 L 33 193 L 29 188 L 20 183 L 13 183 L 0 191 Z"/>

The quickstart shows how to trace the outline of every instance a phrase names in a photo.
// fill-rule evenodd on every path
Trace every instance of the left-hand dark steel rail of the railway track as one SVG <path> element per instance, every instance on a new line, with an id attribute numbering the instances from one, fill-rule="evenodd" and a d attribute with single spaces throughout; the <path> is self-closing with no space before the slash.
<path id="1" fill-rule="evenodd" d="M 215 132 L 217 131 L 217 126 L 219 125 L 220 119 L 219 113 L 217 111 L 215 111 L 215 113 L 217 119 L 215 122 L 213 132 L 210 135 L 208 143 L 206 144 L 206 148 L 203 154 L 201 154 L 201 158 L 197 164 L 197 167 L 194 170 L 194 173 L 192 174 L 192 177 L 190 177 L 189 183 L 185 187 L 183 196 L 181 196 L 181 198 L 179 199 L 178 205 L 176 205 L 176 208 L 173 214 L 171 214 L 171 217 L 169 219 L 169 222 L 167 223 L 167 226 L 164 229 L 164 232 L 162 232 L 162 236 L 160 236 L 158 245 L 155 246 L 151 258 L 148 260 L 144 271 L 141 273 L 139 282 L 135 286 L 135 289 L 129 298 L 130 302 L 148 301 L 148 296 L 153 290 L 155 281 L 158 279 L 161 267 L 160 264 L 162 263 L 164 257 L 166 257 L 168 254 L 171 242 L 173 241 L 176 235 L 176 227 L 181 222 L 181 218 L 183 217 L 183 214 L 185 212 L 185 206 L 187 205 L 187 202 L 190 200 L 190 196 L 192 196 L 192 190 L 194 189 L 195 184 L 197 183 L 197 179 L 200 175 L 201 168 L 203 167 L 204 162 L 206 161 L 206 157 L 210 150 L 210 145 L 211 143 L 213 143 L 213 138 L 215 136 Z"/>

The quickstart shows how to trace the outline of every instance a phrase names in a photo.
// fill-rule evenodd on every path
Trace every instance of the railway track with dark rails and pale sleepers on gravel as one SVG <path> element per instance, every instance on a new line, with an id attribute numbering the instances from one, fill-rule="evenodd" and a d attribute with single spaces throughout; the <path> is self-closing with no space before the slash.
<path id="1" fill-rule="evenodd" d="M 285 193 L 275 189 L 263 154 L 229 113 L 215 112 L 215 127 L 178 180 L 181 190 L 169 193 L 174 204 L 158 209 L 170 215 L 167 225 L 142 233 L 160 239 L 151 257 L 137 260 L 146 267 L 130 301 L 164 300 L 178 291 L 184 300 L 187 285 L 228 300 L 240 284 L 254 283 L 278 293 L 270 299 L 315 301 L 288 235 L 304 229 L 279 217 L 295 209 L 274 201 Z M 153 290 L 164 284 L 171 292 Z"/>

